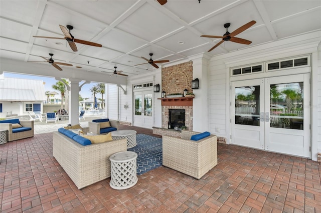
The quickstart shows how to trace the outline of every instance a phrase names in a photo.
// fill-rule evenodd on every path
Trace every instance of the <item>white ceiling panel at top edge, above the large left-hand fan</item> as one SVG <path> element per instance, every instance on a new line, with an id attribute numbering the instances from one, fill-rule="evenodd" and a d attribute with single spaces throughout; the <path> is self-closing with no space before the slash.
<path id="1" fill-rule="evenodd" d="M 101 22 L 111 24 L 119 15 L 124 13 L 135 1 L 133 0 L 55 0 L 64 7 L 86 14 Z M 90 15 L 89 15 L 90 14 Z"/>

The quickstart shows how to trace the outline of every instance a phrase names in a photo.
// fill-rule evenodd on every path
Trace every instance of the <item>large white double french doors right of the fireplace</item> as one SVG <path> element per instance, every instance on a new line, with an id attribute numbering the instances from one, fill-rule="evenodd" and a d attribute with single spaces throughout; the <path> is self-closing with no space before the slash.
<path id="1" fill-rule="evenodd" d="M 231 143 L 310 157 L 309 74 L 231 82 Z"/>

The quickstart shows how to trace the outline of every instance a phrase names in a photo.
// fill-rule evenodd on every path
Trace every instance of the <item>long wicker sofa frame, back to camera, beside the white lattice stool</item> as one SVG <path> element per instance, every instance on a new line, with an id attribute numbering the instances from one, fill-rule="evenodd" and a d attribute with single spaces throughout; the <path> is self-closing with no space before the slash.
<path id="1" fill-rule="evenodd" d="M 81 145 L 58 131 L 53 132 L 53 156 L 78 189 L 110 177 L 109 156 L 126 150 L 126 138 Z"/>

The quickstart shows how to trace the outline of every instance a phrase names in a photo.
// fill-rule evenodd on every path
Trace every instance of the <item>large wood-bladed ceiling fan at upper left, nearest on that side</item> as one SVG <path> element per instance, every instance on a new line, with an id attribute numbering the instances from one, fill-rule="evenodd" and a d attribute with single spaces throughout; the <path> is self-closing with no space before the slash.
<path id="1" fill-rule="evenodd" d="M 86 45 L 91 45 L 91 46 L 99 46 L 99 47 L 102 46 L 99 43 L 94 43 L 94 42 L 91 42 L 91 41 L 80 40 L 80 39 L 74 38 L 74 36 L 70 32 L 70 30 L 74 28 L 72 25 L 67 25 L 67 28 L 69 29 L 69 32 L 68 32 L 68 29 L 65 26 L 63 26 L 63 25 L 59 25 L 59 26 L 60 26 L 61 31 L 64 33 L 65 37 L 47 37 L 47 36 L 36 36 L 36 35 L 34 35 L 34 37 L 66 39 L 68 41 L 68 43 L 69 43 L 69 46 L 71 47 L 71 49 L 73 51 L 77 51 L 78 50 L 75 42 L 86 44 Z"/>

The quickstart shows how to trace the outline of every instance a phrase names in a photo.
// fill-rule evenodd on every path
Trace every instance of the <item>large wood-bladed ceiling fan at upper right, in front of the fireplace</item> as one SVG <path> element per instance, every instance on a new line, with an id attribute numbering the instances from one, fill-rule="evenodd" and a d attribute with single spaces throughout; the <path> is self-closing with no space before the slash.
<path id="1" fill-rule="evenodd" d="M 230 27 L 231 23 L 225 23 L 224 27 L 226 28 L 226 32 L 224 33 L 223 36 L 217 36 L 217 35 L 201 35 L 201 37 L 214 37 L 214 38 L 222 38 L 222 40 L 220 42 L 218 42 L 215 46 L 213 46 L 212 48 L 210 48 L 208 51 L 212 51 L 214 48 L 218 47 L 221 43 L 223 43 L 224 41 L 230 40 L 236 43 L 243 43 L 243 44 L 250 44 L 252 43 L 252 41 L 250 40 L 246 40 L 243 38 L 239 38 L 239 37 L 234 37 L 235 35 L 243 32 L 244 30 L 246 30 L 247 28 L 251 27 L 252 25 L 254 25 L 256 23 L 255 20 L 251 20 L 250 22 L 244 24 L 243 26 L 235 29 L 233 32 L 229 32 L 227 30 L 228 27 Z"/>

